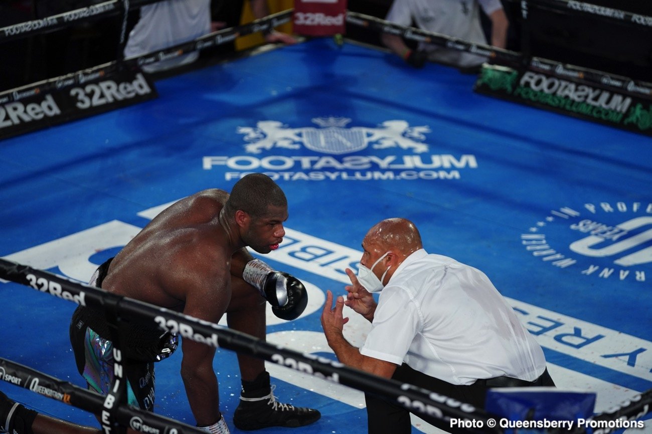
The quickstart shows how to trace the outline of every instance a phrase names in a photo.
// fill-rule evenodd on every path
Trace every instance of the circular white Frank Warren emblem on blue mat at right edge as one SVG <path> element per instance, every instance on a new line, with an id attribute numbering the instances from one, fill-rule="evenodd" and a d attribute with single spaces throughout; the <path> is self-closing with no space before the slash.
<path id="1" fill-rule="evenodd" d="M 550 210 L 521 235 L 527 252 L 587 278 L 645 282 L 652 265 L 652 202 L 584 203 Z"/>

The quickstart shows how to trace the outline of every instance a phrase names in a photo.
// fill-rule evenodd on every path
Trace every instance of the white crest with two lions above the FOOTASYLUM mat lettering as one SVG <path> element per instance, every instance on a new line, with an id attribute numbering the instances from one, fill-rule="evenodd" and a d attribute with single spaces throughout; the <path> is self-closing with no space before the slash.
<path id="1" fill-rule="evenodd" d="M 416 153 L 427 152 L 424 133 L 428 126 L 409 126 L 406 121 L 385 121 L 379 128 L 355 126 L 345 128 L 351 119 L 346 117 L 318 117 L 312 119 L 321 128 L 289 128 L 278 121 L 259 121 L 256 127 L 241 126 L 246 152 L 259 154 L 263 149 L 300 149 L 301 145 L 325 154 L 349 154 L 362 151 L 369 145 L 374 149 L 399 147 Z"/>

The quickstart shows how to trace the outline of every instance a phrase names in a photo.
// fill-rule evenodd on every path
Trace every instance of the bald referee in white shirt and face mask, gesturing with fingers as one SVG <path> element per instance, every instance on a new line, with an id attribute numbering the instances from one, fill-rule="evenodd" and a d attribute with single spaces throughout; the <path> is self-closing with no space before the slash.
<path id="1" fill-rule="evenodd" d="M 488 388 L 554 386 L 541 347 L 477 268 L 427 253 L 402 218 L 374 225 L 363 240 L 348 296 L 327 292 L 321 325 L 340 362 L 484 408 Z M 382 291 L 378 304 L 373 292 Z M 357 349 L 342 335 L 344 304 L 372 323 Z M 410 433 L 408 410 L 365 395 L 368 432 Z M 426 422 L 446 431 L 443 421 Z"/>

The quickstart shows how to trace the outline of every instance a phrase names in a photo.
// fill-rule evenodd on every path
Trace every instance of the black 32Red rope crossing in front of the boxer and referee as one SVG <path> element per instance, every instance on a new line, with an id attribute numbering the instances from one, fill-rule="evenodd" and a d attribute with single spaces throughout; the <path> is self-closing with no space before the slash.
<path id="1" fill-rule="evenodd" d="M 349 368 L 328 358 L 284 349 L 215 323 L 160 308 L 140 300 L 108 293 L 104 289 L 74 282 L 51 272 L 37 270 L 4 258 L 0 258 L 0 278 L 21 283 L 38 291 L 50 293 L 55 297 L 95 309 L 101 309 L 104 304 L 109 302 L 115 305 L 115 311 L 119 316 L 138 321 L 143 325 L 179 333 L 184 339 L 248 354 L 333 383 L 385 396 L 409 411 L 441 420 L 473 418 L 486 422 L 492 417 L 495 418 L 484 409 L 477 409 L 473 405 L 460 403 L 413 384 L 383 379 L 359 369 Z M 484 429 L 479 432 L 500 433 L 501 429 L 488 428 L 484 423 Z"/>

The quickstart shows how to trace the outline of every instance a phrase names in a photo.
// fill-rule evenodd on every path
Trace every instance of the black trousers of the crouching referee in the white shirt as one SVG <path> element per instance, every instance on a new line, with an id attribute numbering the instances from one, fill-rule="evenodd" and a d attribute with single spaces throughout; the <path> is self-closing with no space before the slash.
<path id="1" fill-rule="evenodd" d="M 402 383 L 416 384 L 424 389 L 432 390 L 437 394 L 447 396 L 449 398 L 462 401 L 474 405 L 479 409 L 484 409 L 484 399 L 486 392 L 489 388 L 500 386 L 554 386 L 555 383 L 548 374 L 548 369 L 539 377 L 539 379 L 532 383 L 520 382 L 522 384 L 501 384 L 500 377 L 495 382 L 479 380 L 469 386 L 462 386 L 459 384 L 451 384 L 446 381 L 430 377 L 422 372 L 415 371 L 406 364 L 399 366 L 392 379 L 401 381 Z M 518 380 L 515 380 L 518 381 Z M 412 431 L 410 423 L 409 411 L 400 405 L 396 405 L 385 398 L 379 398 L 372 394 L 364 394 L 367 407 L 367 422 L 369 434 L 409 434 Z M 444 422 L 436 418 L 429 418 L 428 416 L 415 413 L 417 416 L 436 426 L 444 431 L 451 432 L 449 422 Z"/>

